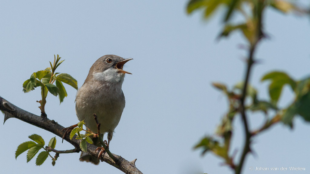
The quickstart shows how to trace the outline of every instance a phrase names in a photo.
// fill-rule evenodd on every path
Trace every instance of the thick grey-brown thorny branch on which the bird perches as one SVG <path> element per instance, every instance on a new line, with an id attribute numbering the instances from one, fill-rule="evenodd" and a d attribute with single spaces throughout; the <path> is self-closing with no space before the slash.
<path id="1" fill-rule="evenodd" d="M 4 121 L 9 118 L 14 117 L 26 123 L 45 129 L 51 133 L 54 133 L 55 135 L 61 138 L 63 136 L 62 129 L 64 127 L 56 123 L 54 120 L 49 120 L 47 118 L 42 118 L 38 115 L 34 115 L 19 107 L 16 107 L 15 105 L 11 104 L 10 102 L 8 102 L 2 97 L 0 97 L 0 110 L 2 110 L 5 114 Z M 70 140 L 69 135 L 68 135 L 64 138 L 64 140 L 72 144 L 74 148 L 77 149 L 77 151 L 81 151 L 81 148 L 80 148 L 81 140 L 77 140 L 75 139 L 75 137 L 76 135 L 72 138 L 72 140 Z M 90 153 L 94 157 L 98 157 L 98 153 L 95 151 L 96 148 L 97 146 L 87 143 L 87 152 Z M 117 159 L 116 160 L 117 163 L 115 163 L 113 159 L 111 159 L 106 153 L 101 155 L 100 160 L 118 168 L 119 170 L 121 170 L 122 172 L 126 174 L 142 174 L 142 172 L 139 171 L 139 169 L 137 169 L 137 167 L 135 166 L 136 159 L 129 162 L 119 155 L 113 154 L 113 156 L 115 157 L 115 159 Z"/>

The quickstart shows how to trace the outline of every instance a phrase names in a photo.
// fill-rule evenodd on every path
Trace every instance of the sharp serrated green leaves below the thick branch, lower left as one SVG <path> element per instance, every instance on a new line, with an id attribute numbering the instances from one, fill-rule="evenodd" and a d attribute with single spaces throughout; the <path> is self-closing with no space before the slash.
<path id="1" fill-rule="evenodd" d="M 22 154 L 24 151 L 28 150 L 27 152 L 27 163 L 28 163 L 31 159 L 33 159 L 33 157 L 38 153 L 39 150 L 43 149 L 43 151 L 38 154 L 38 157 L 36 159 L 36 165 L 40 166 L 44 163 L 44 161 L 47 159 L 48 156 L 51 156 L 49 154 L 51 151 L 46 150 L 44 148 L 45 142 L 40 135 L 32 134 L 29 136 L 29 138 L 33 141 L 26 141 L 26 142 L 21 143 L 17 147 L 17 150 L 15 151 L 15 159 L 17 159 L 17 157 L 20 154 Z M 55 146 L 56 146 L 56 137 L 53 137 L 49 141 L 48 147 L 51 147 L 52 149 L 54 149 Z M 52 158 L 53 166 L 55 165 L 55 160 L 56 159 Z"/>

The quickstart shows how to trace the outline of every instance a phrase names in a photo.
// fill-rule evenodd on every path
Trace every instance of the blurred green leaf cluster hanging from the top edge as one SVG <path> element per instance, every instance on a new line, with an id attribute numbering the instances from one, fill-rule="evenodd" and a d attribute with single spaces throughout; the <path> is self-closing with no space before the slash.
<path id="1" fill-rule="evenodd" d="M 227 37 L 233 31 L 241 31 L 251 45 L 257 41 L 257 35 L 265 36 L 262 27 L 255 26 L 261 25 L 262 12 L 266 7 L 282 13 L 307 13 L 307 11 L 297 7 L 294 2 L 286 0 L 190 0 L 187 4 L 187 13 L 190 14 L 201 9 L 204 18 L 209 19 L 220 7 L 224 7 L 225 12 L 224 27 L 219 37 Z M 242 15 L 244 20 L 233 23 L 231 19 L 234 14 Z"/>

